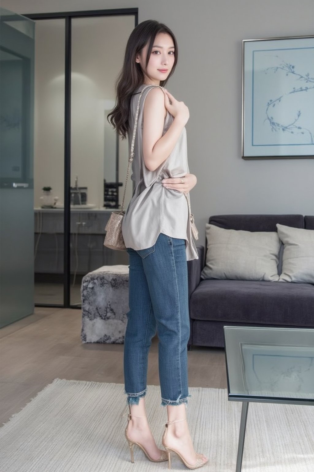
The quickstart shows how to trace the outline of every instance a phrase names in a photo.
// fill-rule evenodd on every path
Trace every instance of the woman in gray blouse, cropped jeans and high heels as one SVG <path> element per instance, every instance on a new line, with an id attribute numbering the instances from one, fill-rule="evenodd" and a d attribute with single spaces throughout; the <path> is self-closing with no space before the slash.
<path id="1" fill-rule="evenodd" d="M 129 312 L 124 339 L 124 380 L 128 424 L 125 436 L 154 462 L 170 451 L 190 469 L 208 459 L 194 451 L 186 421 L 187 343 L 190 336 L 187 262 L 198 259 L 188 216 L 189 173 L 185 124 L 189 110 L 165 90 L 177 64 L 177 41 L 171 30 L 147 20 L 130 34 L 117 79 L 116 106 L 108 117 L 131 147 L 140 98 L 131 179 L 132 199 L 122 221 L 129 253 Z M 187 202 L 188 200 L 188 202 Z M 161 405 L 168 421 L 156 446 L 145 413 L 147 361 L 153 336 L 159 338 Z"/>

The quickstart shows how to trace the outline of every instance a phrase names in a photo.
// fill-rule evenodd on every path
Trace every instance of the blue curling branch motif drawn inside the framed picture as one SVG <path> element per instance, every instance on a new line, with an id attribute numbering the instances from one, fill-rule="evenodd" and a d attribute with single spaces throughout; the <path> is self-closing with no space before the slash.
<path id="1" fill-rule="evenodd" d="M 282 60 L 279 56 L 274 56 L 274 57 Z M 267 74 L 268 71 L 270 70 L 273 71 L 274 74 L 278 70 L 282 70 L 285 72 L 286 76 L 293 75 L 296 77 L 296 80 L 304 81 L 306 84 L 314 84 L 314 77 L 310 77 L 308 72 L 305 75 L 299 74 L 298 72 L 296 72 L 294 65 L 288 64 L 287 62 L 283 60 L 279 66 L 267 67 L 265 70 L 265 74 Z M 274 133 L 282 131 L 283 133 L 291 133 L 291 134 L 296 134 L 296 135 L 298 134 L 308 135 L 309 142 L 311 144 L 314 144 L 313 130 L 310 130 L 304 126 L 298 126 L 297 122 L 299 118 L 301 117 L 301 110 L 297 111 L 295 118 L 291 121 L 291 123 L 288 123 L 288 124 L 279 123 L 278 121 L 275 121 L 273 116 L 271 116 L 272 109 L 274 109 L 275 107 L 278 107 L 282 99 L 295 93 L 308 93 L 308 91 L 313 92 L 313 90 L 314 90 L 314 85 L 300 86 L 298 88 L 293 87 L 292 90 L 277 97 L 275 100 L 269 100 L 266 105 L 266 118 L 264 120 L 264 123 L 265 121 L 268 121 L 271 127 L 271 130 Z"/>

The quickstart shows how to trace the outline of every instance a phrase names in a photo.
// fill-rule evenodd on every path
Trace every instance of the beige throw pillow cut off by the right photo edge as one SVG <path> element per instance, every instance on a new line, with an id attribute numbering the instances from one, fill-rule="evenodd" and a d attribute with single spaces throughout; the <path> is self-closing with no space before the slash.
<path id="1" fill-rule="evenodd" d="M 279 282 L 314 284 L 314 229 L 276 224 L 282 240 L 282 274 Z"/>

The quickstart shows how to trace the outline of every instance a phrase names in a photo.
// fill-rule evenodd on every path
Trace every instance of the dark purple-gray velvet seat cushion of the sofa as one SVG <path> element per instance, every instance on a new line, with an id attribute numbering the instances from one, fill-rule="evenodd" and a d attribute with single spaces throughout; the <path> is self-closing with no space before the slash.
<path id="1" fill-rule="evenodd" d="M 201 280 L 190 318 L 314 326 L 314 285 L 256 280 Z"/>

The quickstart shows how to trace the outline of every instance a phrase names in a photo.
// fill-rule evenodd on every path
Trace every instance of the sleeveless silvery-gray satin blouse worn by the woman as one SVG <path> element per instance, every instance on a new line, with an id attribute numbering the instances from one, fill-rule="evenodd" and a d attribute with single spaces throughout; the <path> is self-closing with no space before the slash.
<path id="1" fill-rule="evenodd" d="M 122 219 L 122 236 L 126 247 L 135 250 L 146 249 L 155 244 L 160 233 L 167 236 L 185 239 L 186 260 L 198 259 L 197 249 L 193 240 L 189 210 L 185 195 L 178 190 L 165 188 L 163 178 L 184 177 L 189 173 L 187 162 L 186 129 L 182 130 L 177 143 L 161 165 L 151 171 L 145 166 L 143 157 L 143 111 L 147 94 L 158 85 L 142 84 L 134 92 L 130 101 L 128 134 L 129 153 L 131 150 L 133 128 L 137 110 L 138 94 L 142 94 L 137 132 L 134 143 L 131 180 L 135 183 L 134 192 Z M 166 133 L 173 121 L 167 110 L 162 135 Z M 189 193 L 186 194 L 190 201 Z"/>

